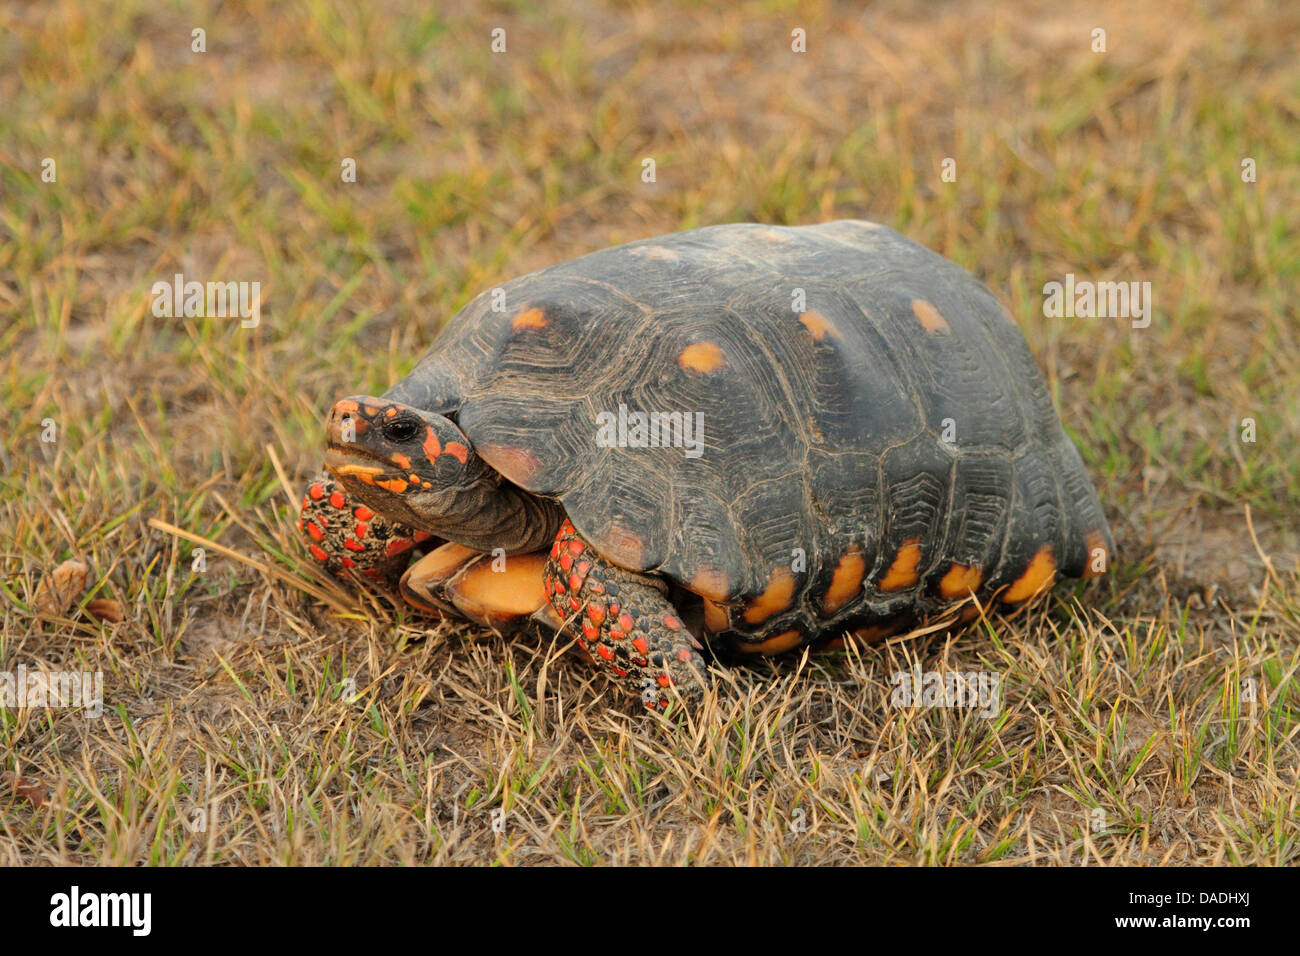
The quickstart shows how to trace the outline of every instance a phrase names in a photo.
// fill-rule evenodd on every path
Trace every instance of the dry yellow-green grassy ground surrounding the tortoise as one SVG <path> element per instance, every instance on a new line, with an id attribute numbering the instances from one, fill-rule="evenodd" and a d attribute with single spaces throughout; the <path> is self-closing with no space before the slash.
<path id="1" fill-rule="evenodd" d="M 0 26 L 0 672 L 104 680 L 96 719 L 0 709 L 0 864 L 1300 861 L 1294 4 L 69 0 Z M 329 405 L 481 290 L 835 217 L 1009 304 L 1115 533 L 1100 583 L 660 718 L 564 640 L 430 626 L 304 555 Z M 155 315 L 176 273 L 260 282 L 260 324 Z M 1066 273 L 1150 282 L 1149 325 L 1046 315 Z M 69 558 L 122 622 L 39 611 Z M 901 702 L 913 667 L 997 705 Z"/>

